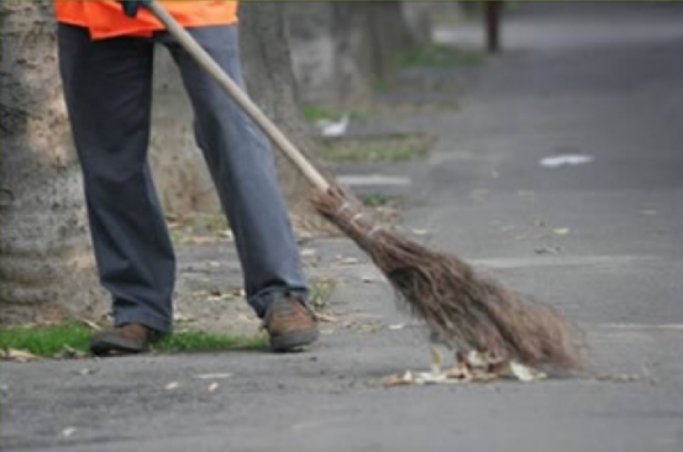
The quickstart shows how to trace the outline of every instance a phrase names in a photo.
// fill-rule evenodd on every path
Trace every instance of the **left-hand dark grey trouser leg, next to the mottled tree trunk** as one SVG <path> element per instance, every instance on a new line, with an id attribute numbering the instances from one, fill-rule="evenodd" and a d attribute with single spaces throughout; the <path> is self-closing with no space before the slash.
<path id="1" fill-rule="evenodd" d="M 171 329 L 175 257 L 147 152 L 154 45 L 60 25 L 60 72 L 97 269 L 115 322 Z"/>

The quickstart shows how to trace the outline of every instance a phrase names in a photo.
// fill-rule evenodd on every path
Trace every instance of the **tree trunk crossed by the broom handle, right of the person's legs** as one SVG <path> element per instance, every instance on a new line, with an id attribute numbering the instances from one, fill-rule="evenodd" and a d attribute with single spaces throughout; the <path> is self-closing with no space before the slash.
<path id="1" fill-rule="evenodd" d="M 240 52 L 251 98 L 292 143 L 304 152 L 310 151 L 313 141 L 299 108 L 285 33 L 284 5 L 280 2 L 240 5 Z M 278 149 L 273 152 L 291 211 L 308 212 L 308 182 Z"/>

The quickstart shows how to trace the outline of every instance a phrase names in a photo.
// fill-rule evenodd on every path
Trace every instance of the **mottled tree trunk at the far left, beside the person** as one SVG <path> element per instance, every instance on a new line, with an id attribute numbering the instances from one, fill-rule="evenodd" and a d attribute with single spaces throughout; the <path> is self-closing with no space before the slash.
<path id="1" fill-rule="evenodd" d="M 48 2 L 0 3 L 2 324 L 99 313 L 81 174 Z"/>

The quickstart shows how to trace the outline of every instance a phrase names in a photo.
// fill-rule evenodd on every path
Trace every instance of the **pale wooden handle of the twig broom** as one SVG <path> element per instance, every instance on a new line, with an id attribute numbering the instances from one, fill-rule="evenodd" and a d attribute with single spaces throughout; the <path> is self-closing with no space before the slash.
<path id="1" fill-rule="evenodd" d="M 192 37 L 185 28 L 180 26 L 176 19 L 168 14 L 168 11 L 162 5 L 159 5 L 154 0 L 150 0 L 145 2 L 145 6 L 148 7 L 152 14 L 156 15 L 158 20 L 168 28 L 168 32 L 178 39 L 180 45 L 197 61 L 199 66 L 204 67 L 209 75 L 228 92 L 230 98 L 244 109 L 247 115 L 249 115 L 270 140 L 284 152 L 285 156 L 291 160 L 294 166 L 303 173 L 306 179 L 308 179 L 315 188 L 321 191 L 326 191 L 330 188 L 330 182 L 322 177 L 320 171 L 316 170 L 311 162 L 301 154 L 301 151 L 291 144 L 291 141 L 284 136 L 280 129 L 263 114 L 260 108 L 254 104 L 240 86 L 235 83 L 221 67 L 219 67 L 216 61 L 209 56 L 207 51 L 199 46 L 197 40 Z"/>

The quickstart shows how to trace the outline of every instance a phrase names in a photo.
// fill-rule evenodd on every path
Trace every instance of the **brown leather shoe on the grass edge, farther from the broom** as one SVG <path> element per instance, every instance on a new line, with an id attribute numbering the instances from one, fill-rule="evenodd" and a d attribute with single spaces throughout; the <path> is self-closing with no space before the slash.
<path id="1" fill-rule="evenodd" d="M 146 353 L 159 336 L 143 324 L 123 324 L 95 334 L 90 341 L 90 352 L 97 356 Z"/>

